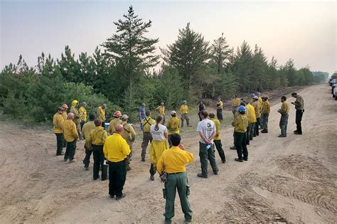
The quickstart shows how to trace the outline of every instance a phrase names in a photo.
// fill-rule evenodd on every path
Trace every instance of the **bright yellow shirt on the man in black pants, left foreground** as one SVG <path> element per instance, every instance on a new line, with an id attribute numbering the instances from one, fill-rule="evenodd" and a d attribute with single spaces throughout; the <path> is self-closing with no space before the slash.
<path id="1" fill-rule="evenodd" d="M 120 134 L 114 133 L 105 139 L 103 153 L 108 161 L 119 162 L 127 158 L 131 150 L 127 141 Z"/>

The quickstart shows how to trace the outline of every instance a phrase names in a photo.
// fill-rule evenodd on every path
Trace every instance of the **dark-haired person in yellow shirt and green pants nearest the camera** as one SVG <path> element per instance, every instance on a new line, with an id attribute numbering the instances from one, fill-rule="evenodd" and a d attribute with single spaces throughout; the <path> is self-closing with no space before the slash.
<path id="1" fill-rule="evenodd" d="M 190 223 L 193 212 L 188 201 L 190 188 L 185 166 L 193 162 L 193 154 L 186 151 L 186 148 L 181 144 L 179 134 L 174 134 L 171 141 L 173 146 L 163 151 L 157 163 L 159 174 L 163 174 L 164 171 L 167 174 L 167 181 L 164 183 L 165 188 L 163 189 L 164 198 L 166 199 L 165 222 L 171 223 L 171 219 L 174 216 L 174 201 L 176 199 L 176 191 L 178 191 L 185 220 Z"/>

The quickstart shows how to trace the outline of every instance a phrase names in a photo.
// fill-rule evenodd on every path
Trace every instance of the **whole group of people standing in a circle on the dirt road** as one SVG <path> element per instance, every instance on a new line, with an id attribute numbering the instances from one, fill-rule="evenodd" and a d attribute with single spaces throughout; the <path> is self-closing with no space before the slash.
<path id="1" fill-rule="evenodd" d="M 304 112 L 303 98 L 293 92 L 296 98 L 293 102 L 296 108 L 297 129 L 294 134 L 301 132 L 301 115 Z M 287 97 L 282 96 L 282 107 L 278 112 L 281 114 L 279 122 L 281 134 L 279 137 L 287 137 L 287 120 L 289 104 Z M 58 108 L 58 112 L 53 117 L 54 132 L 57 139 L 56 155 L 63 155 L 63 147 L 66 146 L 64 160 L 75 161 L 75 149 L 77 139 L 85 139 L 85 159 L 83 164 L 85 170 L 89 170 L 90 156 L 93 154 L 93 179 L 101 178 L 102 181 L 109 178 L 109 195 L 116 200 L 124 198 L 122 193 L 127 171 L 132 160 L 132 144 L 136 138 L 136 132 L 128 123 L 127 114 L 115 111 L 114 118 L 109 122 L 109 127 L 105 127 L 105 104 L 100 105 L 97 114 L 90 114 L 89 121 L 86 121 L 86 104 L 83 102 L 77 110 L 78 102 L 73 100 L 70 113 L 67 114 L 67 105 Z M 145 104 L 139 108 L 139 123 L 143 132 L 141 143 L 141 161 L 146 161 L 146 149 L 149 147 L 149 167 L 150 180 L 154 181 L 156 173 L 159 173 L 161 181 L 164 182 L 164 198 L 166 199 L 165 220 L 171 222 L 174 216 L 174 200 L 178 191 L 181 206 L 186 222 L 191 222 L 193 212 L 188 202 L 190 193 L 188 178 L 186 174 L 186 164 L 193 162 L 193 154 L 186 151 L 186 147 L 181 144 L 180 129 L 184 121 L 191 126 L 188 117 L 188 104 L 186 100 L 180 108 L 181 117 L 178 118 L 176 111 L 170 112 L 170 119 L 166 122 L 166 108 L 164 102 L 156 107 L 158 113 L 156 119 L 151 118 L 151 111 L 146 110 Z M 218 165 L 215 161 L 215 149 L 217 149 L 223 164 L 226 162 L 225 151 L 220 137 L 220 122 L 223 120 L 223 102 L 220 97 L 217 99 L 216 117 L 215 112 L 205 110 L 205 105 L 200 102 L 198 105 L 198 122 L 196 131 L 199 139 L 199 157 L 201 172 L 197 174 L 200 178 L 208 178 L 208 162 L 214 175 L 219 174 Z M 234 146 L 230 149 L 237 150 L 235 161 L 247 161 L 247 145 L 254 137 L 259 136 L 259 129 L 262 133 L 268 133 L 268 118 L 270 113 L 270 103 L 267 96 L 260 97 L 260 93 L 251 96 L 249 101 L 239 99 L 236 95 L 232 97 L 232 114 L 234 127 Z M 166 125 L 164 125 L 166 122 Z M 107 173 L 109 170 L 109 174 Z"/>

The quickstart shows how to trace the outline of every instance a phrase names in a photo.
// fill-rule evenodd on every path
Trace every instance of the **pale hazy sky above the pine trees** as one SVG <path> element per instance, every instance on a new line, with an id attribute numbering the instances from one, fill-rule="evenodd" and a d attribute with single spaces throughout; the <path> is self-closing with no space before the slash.
<path id="1" fill-rule="evenodd" d="M 41 52 L 59 58 L 66 45 L 75 55 L 92 53 L 114 33 L 112 21 L 129 5 L 153 21 L 148 36 L 160 47 L 173 43 L 178 29 L 191 28 L 213 42 L 225 33 L 235 49 L 246 40 L 279 64 L 293 58 L 297 68 L 337 70 L 336 1 L 3 1 L 0 68 L 22 54 L 36 65 Z"/>

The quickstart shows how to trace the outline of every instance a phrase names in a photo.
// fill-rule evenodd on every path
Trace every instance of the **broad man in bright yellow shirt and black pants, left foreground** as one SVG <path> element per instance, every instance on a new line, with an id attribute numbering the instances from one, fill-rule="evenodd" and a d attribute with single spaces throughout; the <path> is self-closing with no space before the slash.
<path id="1" fill-rule="evenodd" d="M 117 124 L 116 132 L 107 137 L 103 146 L 105 159 L 109 163 L 109 195 L 110 198 L 116 196 L 116 200 L 125 197 L 123 193 L 124 183 L 127 179 L 127 169 L 125 160 L 131 153 L 127 141 L 121 136 L 123 125 Z"/>

